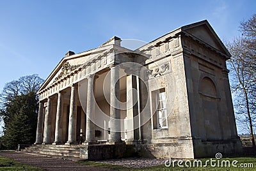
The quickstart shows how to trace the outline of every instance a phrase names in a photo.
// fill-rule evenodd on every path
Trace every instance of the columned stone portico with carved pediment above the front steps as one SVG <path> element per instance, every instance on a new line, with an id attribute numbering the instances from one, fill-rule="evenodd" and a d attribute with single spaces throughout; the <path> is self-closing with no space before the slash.
<path id="1" fill-rule="evenodd" d="M 66 57 L 69 57 L 69 54 L 72 52 L 68 52 Z M 106 140 L 109 143 L 121 142 L 120 109 L 118 108 L 120 68 L 116 67 L 114 57 L 99 56 L 97 61 L 94 59 L 93 63 L 86 61 L 85 64 L 76 66 L 66 62 L 59 73 L 59 75 L 65 73 L 64 77 L 57 75 L 52 84 L 40 92 L 35 144 L 72 145 L 79 144 L 80 138 L 85 144 L 95 144 L 97 140 Z M 103 85 L 97 84 L 103 84 L 106 73 L 109 73 L 109 80 L 105 80 L 105 82 L 110 84 L 108 94 L 110 105 L 104 105 L 109 108 L 109 112 L 106 112 L 109 115 L 109 121 L 106 119 L 107 129 L 104 130 L 104 128 L 95 126 L 95 105 L 99 103 L 97 106 L 100 108 L 102 106 L 100 102 L 106 101 L 106 99 L 102 99 L 102 94 L 95 93 L 95 87 L 103 87 Z M 99 81 L 97 81 L 98 78 Z M 125 78 L 121 80 L 125 80 Z M 83 85 L 83 82 L 86 84 Z M 85 93 L 83 95 L 86 96 L 86 101 L 80 101 L 79 89 L 81 89 L 81 93 Z M 126 89 L 126 85 L 123 85 L 122 89 Z M 102 90 L 98 88 L 98 91 Z M 122 98 L 126 98 L 126 93 L 123 93 L 122 96 Z M 97 101 L 97 99 L 99 100 Z M 97 140 L 95 128 L 102 133 L 100 139 Z M 109 133 L 108 128 L 110 128 Z M 80 136 L 81 134 L 83 137 Z"/>

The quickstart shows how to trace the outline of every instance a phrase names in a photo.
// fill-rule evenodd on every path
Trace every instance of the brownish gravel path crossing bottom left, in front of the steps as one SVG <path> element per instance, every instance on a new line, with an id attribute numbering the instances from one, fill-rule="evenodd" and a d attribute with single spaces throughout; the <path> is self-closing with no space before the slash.
<path id="1" fill-rule="evenodd" d="M 71 160 L 61 160 L 57 158 L 47 158 L 45 156 L 38 156 L 32 154 L 24 154 L 22 152 L 0 152 L 1 156 L 12 158 L 13 160 L 20 161 L 36 167 L 42 167 L 46 170 L 90 170 L 100 171 L 107 170 L 101 168 L 93 168 L 85 165 L 79 165 Z"/>

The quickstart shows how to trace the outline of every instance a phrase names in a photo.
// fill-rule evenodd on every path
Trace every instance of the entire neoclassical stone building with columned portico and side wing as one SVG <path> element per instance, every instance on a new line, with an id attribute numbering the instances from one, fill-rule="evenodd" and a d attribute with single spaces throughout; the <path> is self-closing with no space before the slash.
<path id="1" fill-rule="evenodd" d="M 136 50 L 114 36 L 69 51 L 38 91 L 35 144 L 81 144 L 84 158 L 113 144 L 157 158 L 239 152 L 229 58 L 207 20 Z"/>

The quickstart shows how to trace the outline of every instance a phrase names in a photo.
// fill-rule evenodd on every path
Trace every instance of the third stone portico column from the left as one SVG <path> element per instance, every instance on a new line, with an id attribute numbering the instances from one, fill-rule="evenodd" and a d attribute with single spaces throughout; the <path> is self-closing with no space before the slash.
<path id="1" fill-rule="evenodd" d="M 55 124 L 55 138 L 54 144 L 58 144 L 61 142 L 61 115 L 63 112 L 63 99 L 61 92 L 58 93 L 58 102 L 57 102 L 57 111 L 56 111 L 56 124 Z"/>

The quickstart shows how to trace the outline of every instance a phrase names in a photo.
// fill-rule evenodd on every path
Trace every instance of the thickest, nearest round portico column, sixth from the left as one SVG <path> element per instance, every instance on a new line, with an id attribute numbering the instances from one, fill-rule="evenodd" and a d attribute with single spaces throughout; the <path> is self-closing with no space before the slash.
<path id="1" fill-rule="evenodd" d="M 120 129 L 120 109 L 119 109 L 119 68 L 116 66 L 110 67 L 110 138 L 109 142 L 121 141 Z"/>

